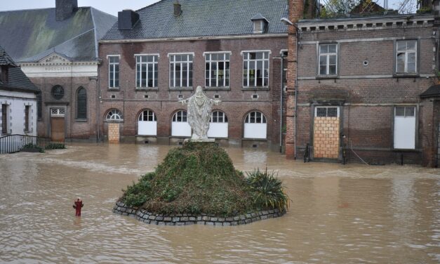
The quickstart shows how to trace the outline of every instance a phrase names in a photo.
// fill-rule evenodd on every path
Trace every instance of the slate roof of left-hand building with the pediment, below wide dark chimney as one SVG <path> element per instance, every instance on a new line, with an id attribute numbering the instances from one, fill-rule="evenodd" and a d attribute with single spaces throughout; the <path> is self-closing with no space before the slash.
<path id="1" fill-rule="evenodd" d="M 72 61 L 97 60 L 98 40 L 115 21 L 91 7 L 80 7 L 63 21 L 55 20 L 55 8 L 3 11 L 0 45 L 15 62 L 38 62 L 51 53 Z"/>

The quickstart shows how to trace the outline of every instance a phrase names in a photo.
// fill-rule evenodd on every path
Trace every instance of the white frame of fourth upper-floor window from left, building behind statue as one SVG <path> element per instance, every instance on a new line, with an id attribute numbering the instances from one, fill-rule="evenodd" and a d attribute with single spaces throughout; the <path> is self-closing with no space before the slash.
<path id="1" fill-rule="evenodd" d="M 224 55 L 224 59 L 223 60 L 212 60 L 212 55 L 213 54 L 223 54 Z M 231 86 L 231 55 L 232 55 L 232 52 L 231 51 L 210 51 L 210 52 L 204 52 L 204 58 L 205 58 L 205 88 L 211 88 L 211 89 L 215 89 L 215 88 L 230 88 L 230 86 Z M 210 55 L 210 59 L 209 60 L 207 60 L 207 55 Z M 229 55 L 229 58 L 228 59 L 226 59 L 227 58 L 227 56 L 226 55 Z M 216 71 L 217 71 L 217 77 L 215 78 L 215 86 L 213 86 L 213 85 L 211 85 L 211 80 L 212 80 L 212 77 L 211 77 L 211 72 L 212 72 L 212 69 L 211 69 L 211 67 L 212 67 L 212 65 L 211 65 L 211 63 L 215 63 L 216 62 L 216 67 L 217 67 L 217 69 L 216 69 Z M 218 64 L 219 64 L 219 62 L 223 62 L 224 63 L 224 65 L 223 65 L 223 72 L 224 72 L 224 74 L 223 74 L 223 84 L 222 85 L 219 85 L 219 79 L 218 79 L 218 71 L 219 71 L 219 69 L 218 69 Z M 206 69 L 206 65 L 209 63 L 209 70 L 208 69 Z M 226 64 L 228 63 L 228 66 L 229 67 L 227 67 L 227 69 L 226 69 Z M 209 74 L 209 77 L 208 76 L 206 76 L 207 74 Z M 206 80 L 209 80 L 209 85 L 206 85 Z"/>

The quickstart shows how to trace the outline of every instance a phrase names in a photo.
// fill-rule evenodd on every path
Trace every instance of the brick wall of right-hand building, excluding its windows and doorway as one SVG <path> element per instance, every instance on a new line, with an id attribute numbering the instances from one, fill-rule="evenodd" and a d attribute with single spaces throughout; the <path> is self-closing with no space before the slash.
<path id="1" fill-rule="evenodd" d="M 403 161 L 435 166 L 438 152 L 435 144 L 438 121 L 435 120 L 439 119 L 439 113 L 434 109 L 434 100 L 419 96 L 438 82 L 434 74 L 434 17 L 300 20 L 298 27 L 297 97 L 289 96 L 287 103 L 288 111 L 295 111 L 296 107 L 297 128 L 296 135 L 294 125 L 287 129 L 287 137 L 292 138 L 288 142 L 294 145 L 293 150 L 286 151 L 288 158 L 293 158 L 295 152 L 296 157 L 302 158 L 309 143 L 314 159 L 314 109 L 331 105 L 340 110 L 339 160 L 342 159 L 342 145 L 345 145 L 349 161 L 361 161 L 361 157 L 370 164 L 400 164 Z M 417 40 L 417 74 L 396 74 L 396 41 L 401 39 Z M 328 43 L 338 45 L 338 74 L 320 78 L 317 74 L 318 48 L 319 44 Z M 289 42 L 289 54 L 292 51 L 295 51 L 295 41 Z M 289 74 L 294 68 L 295 62 L 291 62 Z M 289 75 L 290 88 L 294 88 L 291 79 Z M 416 109 L 414 150 L 394 148 L 394 107 L 405 105 Z"/>

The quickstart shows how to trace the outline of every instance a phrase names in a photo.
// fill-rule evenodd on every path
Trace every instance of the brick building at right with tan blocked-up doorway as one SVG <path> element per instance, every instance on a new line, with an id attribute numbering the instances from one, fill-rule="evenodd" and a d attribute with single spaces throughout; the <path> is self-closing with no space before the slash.
<path id="1" fill-rule="evenodd" d="M 438 82 L 434 21 L 371 15 L 292 26 L 287 158 L 302 158 L 309 144 L 316 161 L 341 161 L 345 146 L 349 161 L 435 166 L 440 93 L 427 92 Z"/>

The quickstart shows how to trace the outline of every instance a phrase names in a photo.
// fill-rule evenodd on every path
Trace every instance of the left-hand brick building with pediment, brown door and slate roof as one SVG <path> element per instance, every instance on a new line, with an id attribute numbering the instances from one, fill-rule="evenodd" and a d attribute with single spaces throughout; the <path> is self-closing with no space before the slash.
<path id="1" fill-rule="evenodd" d="M 116 18 L 77 0 L 0 12 L 0 45 L 41 90 L 35 131 L 52 140 L 98 137 L 98 39 Z"/>

